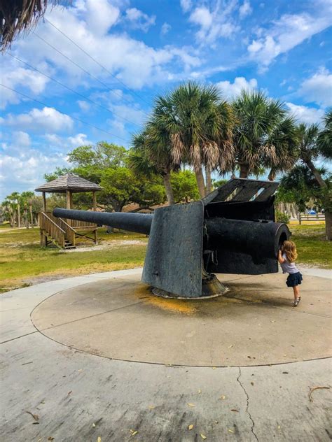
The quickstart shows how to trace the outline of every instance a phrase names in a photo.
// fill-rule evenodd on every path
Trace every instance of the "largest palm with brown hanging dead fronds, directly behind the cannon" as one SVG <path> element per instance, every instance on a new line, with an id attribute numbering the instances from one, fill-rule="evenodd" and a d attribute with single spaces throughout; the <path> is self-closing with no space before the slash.
<path id="1" fill-rule="evenodd" d="M 202 166 L 207 176 L 207 192 L 211 190 L 211 171 L 226 171 L 233 166 L 230 107 L 221 100 L 216 87 L 189 82 L 170 95 L 158 97 L 154 115 L 170 134 L 174 164 L 193 166 L 200 196 L 205 197 Z"/>

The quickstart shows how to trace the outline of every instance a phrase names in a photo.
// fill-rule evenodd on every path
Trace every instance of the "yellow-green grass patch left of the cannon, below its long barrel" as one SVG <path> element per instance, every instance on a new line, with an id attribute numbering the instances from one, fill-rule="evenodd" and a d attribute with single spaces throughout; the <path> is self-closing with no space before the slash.
<path id="1" fill-rule="evenodd" d="M 130 269 L 144 262 L 146 237 L 139 234 L 106 234 L 99 231 L 99 245 L 116 240 L 139 241 L 135 245 L 114 245 L 104 250 L 65 252 L 39 245 L 39 229 L 24 229 L 0 234 L 0 292 L 22 287 L 38 276 L 79 275 L 98 271 Z M 85 243 L 84 245 L 90 245 Z"/>

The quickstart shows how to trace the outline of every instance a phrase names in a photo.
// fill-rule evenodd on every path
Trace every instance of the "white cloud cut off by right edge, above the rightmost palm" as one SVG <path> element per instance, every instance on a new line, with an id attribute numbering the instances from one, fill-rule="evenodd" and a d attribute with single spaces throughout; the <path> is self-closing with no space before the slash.
<path id="1" fill-rule="evenodd" d="M 332 106 L 332 73 L 327 69 L 320 69 L 303 81 L 298 93 L 319 106 Z"/>

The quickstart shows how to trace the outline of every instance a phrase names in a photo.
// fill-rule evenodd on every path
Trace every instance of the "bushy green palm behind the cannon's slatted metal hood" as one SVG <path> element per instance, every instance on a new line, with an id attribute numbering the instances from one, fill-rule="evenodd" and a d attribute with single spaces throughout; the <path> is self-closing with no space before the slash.
<path id="1" fill-rule="evenodd" d="M 281 101 L 263 92 L 243 90 L 232 104 L 235 115 L 233 141 L 240 178 L 269 167 L 269 179 L 296 162 L 296 130 Z"/>

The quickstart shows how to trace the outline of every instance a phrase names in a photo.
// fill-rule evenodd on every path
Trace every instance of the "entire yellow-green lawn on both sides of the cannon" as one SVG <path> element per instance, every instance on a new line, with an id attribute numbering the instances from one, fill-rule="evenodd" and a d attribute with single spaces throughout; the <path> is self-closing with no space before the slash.
<path id="1" fill-rule="evenodd" d="M 298 263 L 331 269 L 332 243 L 324 239 L 324 225 L 290 225 L 289 228 L 293 233 L 291 238 L 298 248 Z M 37 228 L 1 231 L 0 292 L 25 287 L 31 279 L 38 277 L 74 276 L 142 266 L 147 242 L 144 235 L 106 234 L 105 229 L 99 229 L 99 244 L 113 243 L 112 247 L 64 252 L 57 248 L 42 249 L 39 239 Z M 119 240 L 136 240 L 139 244 L 114 243 Z"/>

